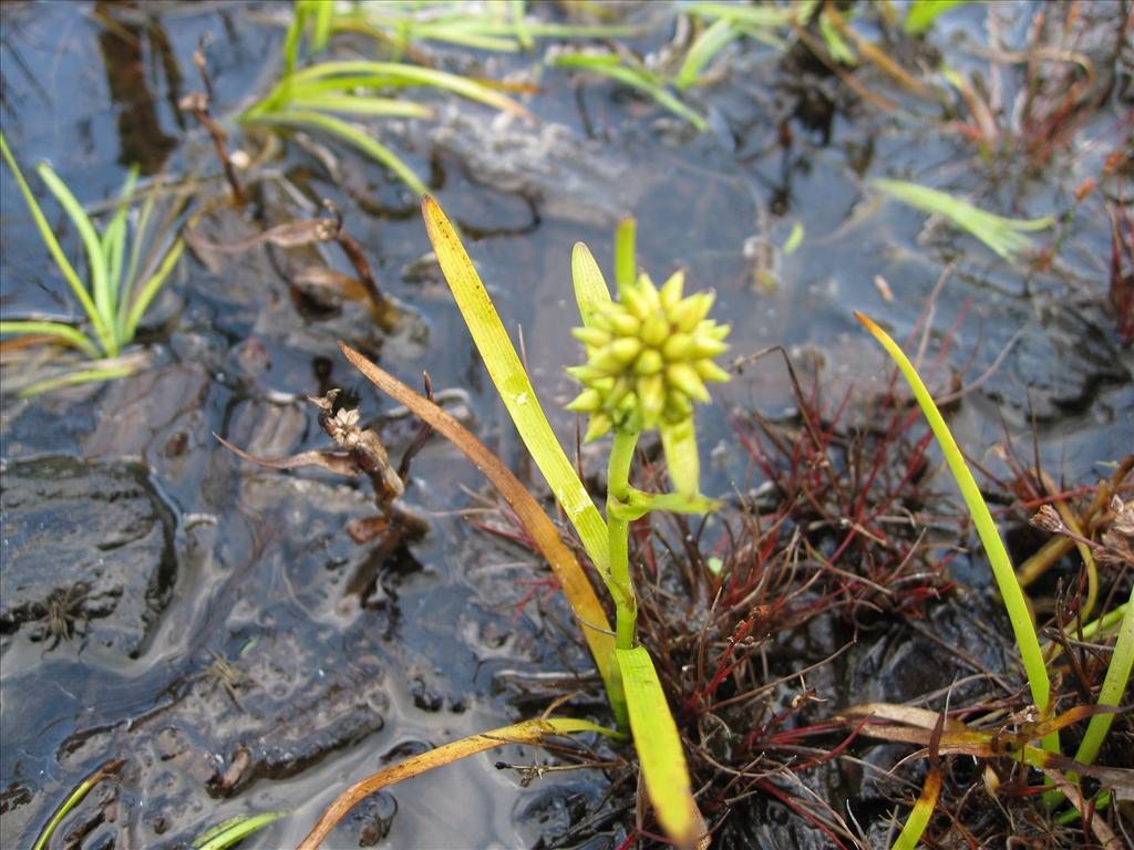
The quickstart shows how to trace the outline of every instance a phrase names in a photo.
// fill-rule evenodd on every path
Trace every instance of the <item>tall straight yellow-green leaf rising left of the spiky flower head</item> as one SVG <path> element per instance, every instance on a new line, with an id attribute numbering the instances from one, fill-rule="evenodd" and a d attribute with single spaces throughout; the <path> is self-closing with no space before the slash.
<path id="1" fill-rule="evenodd" d="M 496 384 L 497 392 L 508 408 L 524 445 L 527 447 L 528 453 L 535 460 L 551 492 L 555 493 L 556 500 L 562 505 L 567 519 L 578 532 L 579 539 L 595 568 L 601 573 L 609 575 L 607 524 L 551 431 L 532 382 L 519 362 L 511 340 L 508 339 L 508 332 L 505 331 L 496 307 L 492 306 L 492 299 L 489 298 L 476 269 L 473 267 L 473 262 L 468 258 L 445 211 L 429 195 L 422 198 L 422 215 L 425 218 L 425 229 L 430 241 L 433 243 L 441 271 L 460 308 L 460 315 L 465 318 L 476 349 L 484 359 L 492 383 Z"/>

